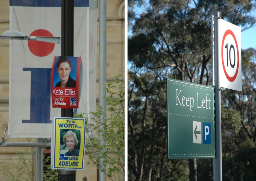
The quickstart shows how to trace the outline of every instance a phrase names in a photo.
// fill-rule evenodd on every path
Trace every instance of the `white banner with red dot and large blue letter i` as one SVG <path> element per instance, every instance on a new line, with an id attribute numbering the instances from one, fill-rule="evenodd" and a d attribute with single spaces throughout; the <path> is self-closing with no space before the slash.
<path id="1" fill-rule="evenodd" d="M 83 84 L 78 113 L 96 111 L 97 6 L 74 3 L 74 56 L 82 59 Z M 97 0 L 90 0 L 90 5 Z M 91 7 L 90 7 L 91 9 Z M 96 17 L 95 17 L 96 16 Z M 89 28 L 90 24 L 90 28 Z M 10 0 L 10 30 L 25 36 L 61 36 L 61 0 Z M 60 44 L 10 41 L 9 129 L 11 137 L 51 138 L 51 68 Z"/>

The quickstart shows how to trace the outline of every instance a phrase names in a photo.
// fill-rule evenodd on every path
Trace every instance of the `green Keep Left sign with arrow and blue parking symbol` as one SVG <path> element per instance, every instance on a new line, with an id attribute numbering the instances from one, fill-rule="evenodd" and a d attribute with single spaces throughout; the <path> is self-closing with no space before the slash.
<path id="1" fill-rule="evenodd" d="M 167 78 L 168 159 L 215 158 L 214 87 Z"/>

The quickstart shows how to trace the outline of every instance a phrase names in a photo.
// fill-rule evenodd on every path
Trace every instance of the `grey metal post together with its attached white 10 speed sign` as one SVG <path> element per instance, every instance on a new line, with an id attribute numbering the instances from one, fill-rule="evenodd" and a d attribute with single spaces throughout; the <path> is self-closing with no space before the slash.
<path id="1" fill-rule="evenodd" d="M 211 13 L 213 86 L 216 109 L 216 159 L 213 159 L 215 181 L 222 181 L 221 90 L 242 91 L 241 28 Z"/>

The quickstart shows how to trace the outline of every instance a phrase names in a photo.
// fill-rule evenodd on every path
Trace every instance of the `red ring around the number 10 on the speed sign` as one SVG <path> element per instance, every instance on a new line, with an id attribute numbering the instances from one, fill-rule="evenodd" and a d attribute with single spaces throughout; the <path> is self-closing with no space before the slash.
<path id="1" fill-rule="evenodd" d="M 224 58 L 223 58 L 223 45 L 224 45 L 224 40 L 226 38 L 227 35 L 231 35 L 233 38 L 234 38 L 234 41 L 236 43 L 236 47 L 237 47 L 237 70 L 236 70 L 236 73 L 230 77 L 226 71 L 226 68 L 224 66 Z M 222 45 L 221 45 L 221 58 L 222 58 L 222 66 L 223 66 L 223 70 L 224 70 L 224 73 L 227 77 L 227 79 L 230 81 L 230 82 L 233 82 L 234 80 L 236 80 L 237 78 L 237 73 L 238 73 L 238 68 L 239 68 L 239 52 L 238 52 L 238 44 L 237 44 L 237 39 L 234 35 L 234 33 L 231 31 L 231 30 L 227 30 L 224 35 L 223 35 L 223 39 L 222 39 Z"/>

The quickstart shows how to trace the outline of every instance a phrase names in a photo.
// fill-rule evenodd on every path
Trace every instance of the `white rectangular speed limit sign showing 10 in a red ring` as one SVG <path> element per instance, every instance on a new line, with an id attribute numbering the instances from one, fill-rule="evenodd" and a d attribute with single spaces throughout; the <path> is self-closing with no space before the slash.
<path id="1" fill-rule="evenodd" d="M 220 87 L 242 91 L 241 28 L 218 19 L 218 63 Z"/>

